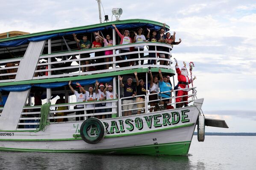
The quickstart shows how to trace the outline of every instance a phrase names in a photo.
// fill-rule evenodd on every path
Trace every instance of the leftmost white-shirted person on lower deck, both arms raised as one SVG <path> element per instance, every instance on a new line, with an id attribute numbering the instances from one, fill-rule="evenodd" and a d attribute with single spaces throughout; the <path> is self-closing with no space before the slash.
<path id="1" fill-rule="evenodd" d="M 79 86 L 78 91 L 73 89 L 73 87 L 71 86 L 71 81 L 68 82 L 69 88 L 71 89 L 71 91 L 74 93 L 74 95 L 77 98 L 77 102 L 83 102 L 86 100 L 86 96 L 85 96 L 86 91 L 79 83 L 76 83 L 76 84 L 77 84 L 77 86 Z M 82 108 L 84 108 L 84 105 L 79 104 L 74 109 L 82 109 Z M 84 113 L 85 112 L 83 110 L 80 110 L 80 111 L 76 112 L 76 115 L 83 115 Z M 76 121 L 79 121 L 79 118 L 80 118 L 80 121 L 84 120 L 84 117 L 76 117 Z"/>

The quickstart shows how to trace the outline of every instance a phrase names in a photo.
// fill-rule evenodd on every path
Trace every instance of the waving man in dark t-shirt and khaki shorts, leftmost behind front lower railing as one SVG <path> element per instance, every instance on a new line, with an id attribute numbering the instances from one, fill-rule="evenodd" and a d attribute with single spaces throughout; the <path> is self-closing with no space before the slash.
<path id="1" fill-rule="evenodd" d="M 127 84 L 123 84 L 123 78 L 119 75 L 118 76 L 120 80 L 120 86 L 124 88 L 124 97 L 134 97 L 136 95 L 135 87 L 132 86 L 132 78 L 127 79 Z M 129 104 L 129 105 L 124 105 L 123 110 L 128 110 L 132 109 L 133 107 L 133 99 L 132 98 L 127 98 L 124 99 L 123 104 Z M 132 111 L 125 111 L 124 116 L 132 115 Z"/>

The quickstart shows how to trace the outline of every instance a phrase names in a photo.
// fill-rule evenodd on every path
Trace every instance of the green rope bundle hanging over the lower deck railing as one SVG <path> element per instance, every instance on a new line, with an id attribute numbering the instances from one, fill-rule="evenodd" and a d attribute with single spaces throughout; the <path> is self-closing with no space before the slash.
<path id="1" fill-rule="evenodd" d="M 50 124 L 50 122 L 47 122 L 48 115 L 49 115 L 49 112 L 50 112 L 50 105 L 51 104 L 49 102 L 49 103 L 43 104 L 41 106 L 41 112 L 40 112 L 41 120 L 39 122 L 39 127 L 37 127 L 38 131 L 40 131 L 40 130 L 44 131 L 45 127 Z"/>

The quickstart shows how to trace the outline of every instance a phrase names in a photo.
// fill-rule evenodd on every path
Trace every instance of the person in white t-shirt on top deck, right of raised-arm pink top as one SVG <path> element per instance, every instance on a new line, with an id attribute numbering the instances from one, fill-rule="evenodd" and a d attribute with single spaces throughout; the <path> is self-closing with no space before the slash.
<path id="1" fill-rule="evenodd" d="M 134 37 L 133 41 L 135 43 L 143 43 L 144 41 L 146 41 L 146 37 L 142 34 L 142 28 L 138 28 L 137 32 L 138 32 L 138 34 L 136 32 L 134 32 L 135 37 Z M 138 51 L 138 50 L 144 51 L 144 46 L 135 46 L 134 51 Z M 140 55 L 140 58 L 144 58 L 144 53 L 139 53 L 139 55 Z M 138 57 L 138 55 L 137 55 L 137 57 Z M 141 59 L 141 65 L 143 65 L 143 63 L 144 63 L 144 60 Z M 136 61 L 136 65 L 138 65 L 138 61 Z"/>

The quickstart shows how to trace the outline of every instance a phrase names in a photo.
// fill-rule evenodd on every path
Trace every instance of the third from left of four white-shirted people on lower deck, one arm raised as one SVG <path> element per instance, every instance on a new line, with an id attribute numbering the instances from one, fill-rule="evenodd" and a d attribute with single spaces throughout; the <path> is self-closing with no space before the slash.
<path id="1" fill-rule="evenodd" d="M 100 85 L 100 86 L 99 86 Z M 98 89 L 98 87 L 100 87 L 100 89 Z M 105 100 L 106 98 L 106 95 L 104 94 L 104 89 L 105 89 L 105 86 L 103 83 L 99 83 L 97 80 L 96 80 L 96 98 L 97 98 L 97 101 L 103 101 Z M 98 103 L 98 104 L 95 104 L 95 107 L 105 107 L 106 103 Z M 95 110 L 96 113 L 103 113 L 103 112 L 106 112 L 106 109 L 96 109 Z M 99 115 L 97 116 L 97 118 L 105 118 L 105 115 Z"/>

